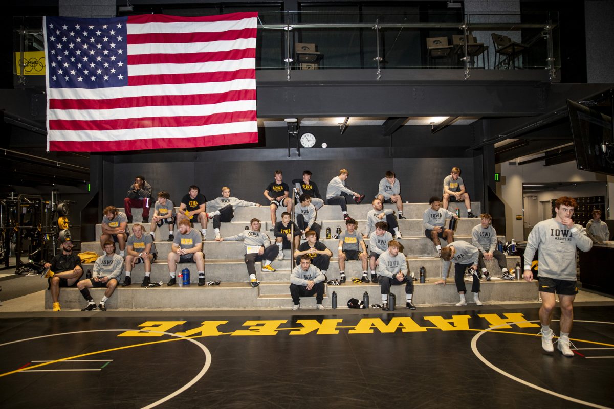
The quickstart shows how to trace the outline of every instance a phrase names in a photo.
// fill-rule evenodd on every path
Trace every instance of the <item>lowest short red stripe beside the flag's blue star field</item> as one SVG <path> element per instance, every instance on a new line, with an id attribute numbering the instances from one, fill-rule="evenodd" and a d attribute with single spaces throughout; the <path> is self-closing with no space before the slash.
<path id="1" fill-rule="evenodd" d="M 255 69 L 253 68 L 238 69 L 236 71 L 193 72 L 188 74 L 130 75 L 128 77 L 128 85 L 139 86 L 226 82 L 244 78 L 255 78 L 255 75 Z"/>

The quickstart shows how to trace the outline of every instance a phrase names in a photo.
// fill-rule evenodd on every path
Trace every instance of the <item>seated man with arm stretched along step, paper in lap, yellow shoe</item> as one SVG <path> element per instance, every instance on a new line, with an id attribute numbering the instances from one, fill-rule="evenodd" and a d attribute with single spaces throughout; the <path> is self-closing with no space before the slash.
<path id="1" fill-rule="evenodd" d="M 260 285 L 260 281 L 256 278 L 256 268 L 254 267 L 257 261 L 263 261 L 262 271 L 275 272 L 271 262 L 277 257 L 279 247 L 271 244 L 271 239 L 267 234 L 260 232 L 260 220 L 253 218 L 249 221 L 251 229 L 231 235 L 230 237 L 216 239 L 216 242 L 243 242 L 245 245 L 244 261 L 247 266 L 247 274 L 249 275 L 249 284 L 252 287 Z"/>

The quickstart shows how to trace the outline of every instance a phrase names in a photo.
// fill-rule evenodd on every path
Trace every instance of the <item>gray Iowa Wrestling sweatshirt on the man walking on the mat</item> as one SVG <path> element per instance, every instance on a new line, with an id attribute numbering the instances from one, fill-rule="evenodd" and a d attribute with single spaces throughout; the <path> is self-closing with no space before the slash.
<path id="1" fill-rule="evenodd" d="M 525 270 L 531 269 L 530 263 L 535 256 L 535 250 L 539 249 L 540 277 L 568 281 L 576 279 L 576 248 L 589 251 L 593 247 L 593 240 L 588 238 L 580 224 L 574 224 L 573 228 L 569 229 L 555 218 L 535 224 L 527 241 L 527 248 L 524 250 Z"/>

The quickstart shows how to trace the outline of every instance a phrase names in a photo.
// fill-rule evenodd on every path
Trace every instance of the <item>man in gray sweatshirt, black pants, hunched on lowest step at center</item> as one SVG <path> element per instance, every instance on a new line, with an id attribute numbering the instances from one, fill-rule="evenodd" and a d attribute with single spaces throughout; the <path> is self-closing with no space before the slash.
<path id="1" fill-rule="evenodd" d="M 290 296 L 292 296 L 292 310 L 301 308 L 300 297 L 311 297 L 316 294 L 316 308 L 324 310 L 324 280 L 326 276 L 316 267 L 311 265 L 309 254 L 300 257 L 300 265 L 292 269 L 290 273 Z"/>

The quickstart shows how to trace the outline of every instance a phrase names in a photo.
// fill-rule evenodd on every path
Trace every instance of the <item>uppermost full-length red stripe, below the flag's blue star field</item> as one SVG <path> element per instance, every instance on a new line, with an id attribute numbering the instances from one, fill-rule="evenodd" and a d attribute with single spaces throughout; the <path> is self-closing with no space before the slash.
<path id="1" fill-rule="evenodd" d="M 114 99 L 50 99 L 49 109 L 118 109 L 177 105 L 219 104 L 256 99 L 255 90 L 228 91 L 219 94 L 149 95 Z"/>

